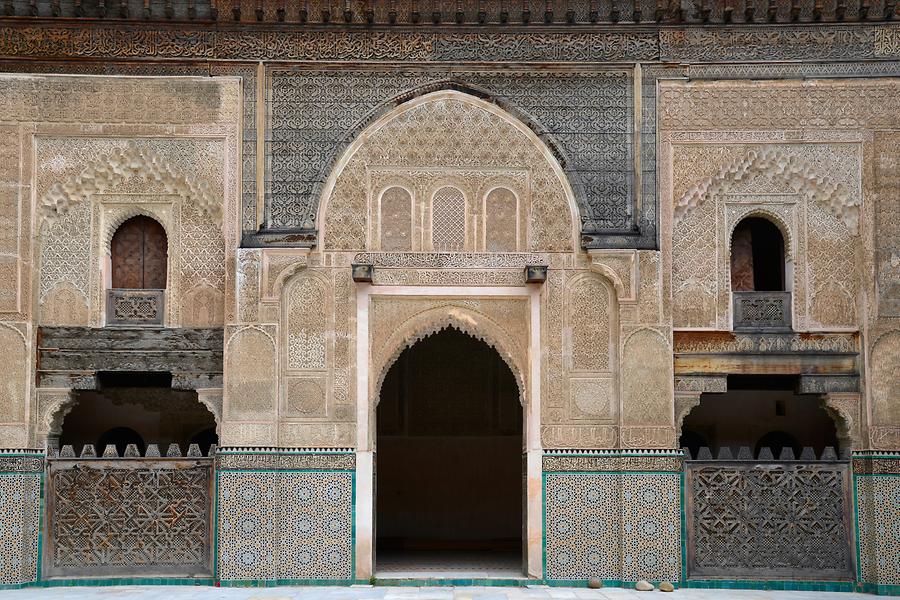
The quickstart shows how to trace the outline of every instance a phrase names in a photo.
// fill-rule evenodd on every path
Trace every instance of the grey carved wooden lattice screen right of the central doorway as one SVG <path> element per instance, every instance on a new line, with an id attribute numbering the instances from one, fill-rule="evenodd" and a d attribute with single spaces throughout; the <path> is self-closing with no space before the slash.
<path id="1" fill-rule="evenodd" d="M 846 461 L 689 461 L 688 577 L 852 580 Z"/>

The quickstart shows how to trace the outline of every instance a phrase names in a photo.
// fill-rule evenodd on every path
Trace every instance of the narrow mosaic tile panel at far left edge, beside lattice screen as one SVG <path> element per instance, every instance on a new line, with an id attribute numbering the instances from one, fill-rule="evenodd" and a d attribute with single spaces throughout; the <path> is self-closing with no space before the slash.
<path id="1" fill-rule="evenodd" d="M 0 474 L 0 585 L 37 581 L 41 479 Z"/>

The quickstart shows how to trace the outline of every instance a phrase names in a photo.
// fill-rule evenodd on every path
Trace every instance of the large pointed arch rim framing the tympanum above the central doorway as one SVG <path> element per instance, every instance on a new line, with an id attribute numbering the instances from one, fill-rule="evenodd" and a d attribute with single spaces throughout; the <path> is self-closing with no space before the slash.
<path id="1" fill-rule="evenodd" d="M 581 177 L 575 170 L 569 168 L 569 165 L 573 164 L 572 160 L 569 159 L 569 156 L 562 145 L 537 119 L 518 108 L 512 101 L 504 96 L 495 94 L 482 87 L 465 83 L 458 79 L 448 78 L 415 87 L 385 99 L 377 108 L 370 111 L 361 118 L 356 125 L 345 132 L 343 139 L 335 147 L 329 159 L 319 170 L 315 180 L 317 183 L 312 190 L 312 197 L 316 198 L 318 201 L 318 206 L 316 207 L 316 226 L 318 229 L 317 244 L 321 244 L 322 239 L 324 239 L 321 233 L 322 226 L 325 222 L 323 219 L 325 214 L 323 205 L 325 204 L 324 201 L 331 196 L 331 191 L 334 187 L 334 182 L 331 181 L 331 175 L 340 171 L 343 165 L 346 164 L 347 157 L 353 155 L 355 152 L 354 146 L 356 146 L 357 141 L 363 137 L 363 132 L 379 122 L 389 120 L 386 119 L 386 117 L 393 118 L 393 115 L 397 113 L 398 109 L 402 109 L 404 105 L 411 101 L 418 100 L 423 96 L 441 92 L 455 92 L 458 96 L 469 96 L 473 99 L 477 99 L 481 101 L 483 105 L 495 107 L 498 114 L 500 112 L 506 113 L 506 115 L 512 117 L 514 121 L 521 123 L 524 128 L 527 129 L 530 137 L 538 140 L 541 146 L 547 149 L 553 157 L 552 162 L 555 163 L 555 166 L 559 167 L 560 172 L 563 174 L 563 180 L 565 181 L 565 187 L 568 192 L 567 195 L 569 196 L 570 202 L 575 204 L 573 222 L 579 224 L 582 220 L 594 218 L 590 206 L 584 200 L 585 192 L 584 186 L 581 183 Z M 577 240 L 580 238 L 580 226 L 576 233 L 575 239 Z"/>

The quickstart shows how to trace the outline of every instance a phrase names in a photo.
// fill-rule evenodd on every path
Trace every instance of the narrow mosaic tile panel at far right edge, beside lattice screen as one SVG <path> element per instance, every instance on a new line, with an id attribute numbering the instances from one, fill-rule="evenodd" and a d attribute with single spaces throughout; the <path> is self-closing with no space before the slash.
<path id="1" fill-rule="evenodd" d="M 900 474 L 857 475 L 859 580 L 900 585 Z"/>

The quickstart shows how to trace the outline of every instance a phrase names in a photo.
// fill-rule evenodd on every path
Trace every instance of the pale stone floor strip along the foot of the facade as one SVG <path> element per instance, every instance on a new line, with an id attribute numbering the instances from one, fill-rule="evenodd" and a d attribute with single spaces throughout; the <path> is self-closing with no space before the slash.
<path id="1" fill-rule="evenodd" d="M 400 588 L 400 587 L 283 587 L 214 588 L 170 586 L 115 586 L 33 588 L 0 592 L 0 600 L 640 600 L 659 598 L 661 592 L 621 588 Z M 662 598 L 681 600 L 871 600 L 865 594 L 827 592 L 758 592 L 735 590 L 677 590 Z"/>

